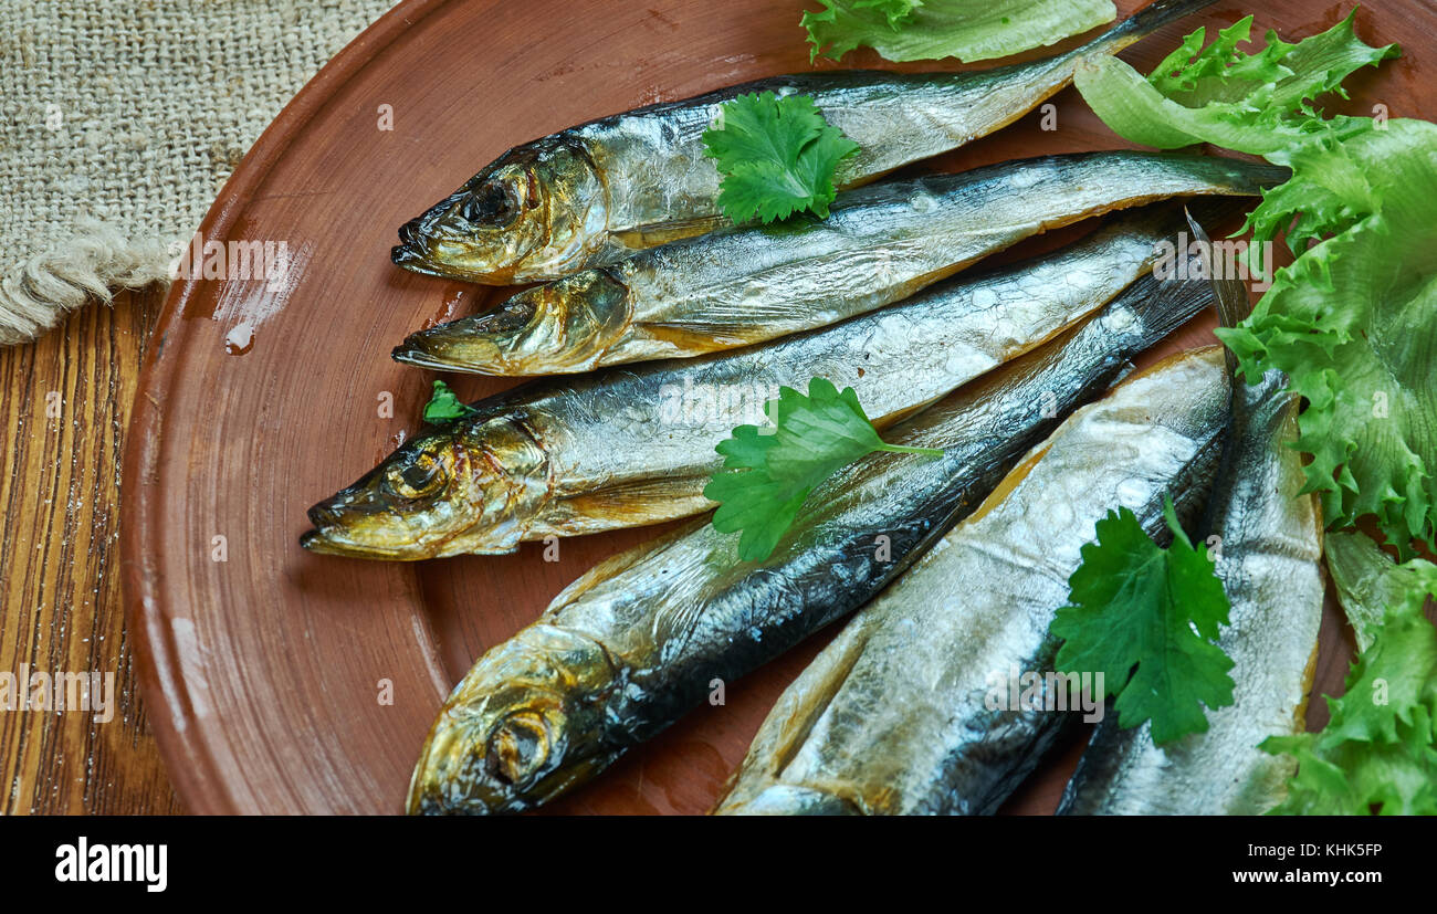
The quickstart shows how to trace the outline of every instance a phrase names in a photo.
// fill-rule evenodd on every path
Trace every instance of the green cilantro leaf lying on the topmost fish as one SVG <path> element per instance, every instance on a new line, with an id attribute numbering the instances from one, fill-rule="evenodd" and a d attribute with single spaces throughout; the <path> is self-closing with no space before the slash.
<path id="1" fill-rule="evenodd" d="M 740 95 L 718 108 L 704 148 L 718 165 L 718 207 L 734 223 L 764 223 L 809 211 L 823 218 L 833 203 L 833 172 L 858 152 L 829 126 L 808 95 L 779 98 L 772 91 Z"/>

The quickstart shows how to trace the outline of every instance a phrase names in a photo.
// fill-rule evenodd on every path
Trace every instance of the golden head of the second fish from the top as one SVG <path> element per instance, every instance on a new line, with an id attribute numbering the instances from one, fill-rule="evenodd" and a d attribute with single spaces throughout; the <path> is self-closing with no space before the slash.
<path id="1" fill-rule="evenodd" d="M 533 286 L 503 305 L 411 333 L 394 358 L 440 371 L 539 375 L 588 371 L 634 318 L 614 270 L 583 270 Z"/>

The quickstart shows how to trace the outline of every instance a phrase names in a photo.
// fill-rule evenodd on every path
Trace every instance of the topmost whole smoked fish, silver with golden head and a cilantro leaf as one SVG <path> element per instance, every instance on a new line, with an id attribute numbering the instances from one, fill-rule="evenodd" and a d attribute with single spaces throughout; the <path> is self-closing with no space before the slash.
<path id="1" fill-rule="evenodd" d="M 1081 47 L 1027 63 L 941 73 L 793 73 L 570 126 L 481 168 L 407 223 L 392 256 L 420 273 L 491 285 L 614 266 L 635 251 L 733 226 L 721 213 L 723 183 L 703 137 L 739 95 L 813 99 L 823 119 L 856 145 L 833 175 L 833 185 L 846 191 L 1012 124 L 1066 86 L 1078 68 L 1210 3 L 1154 0 Z M 504 221 L 512 211 L 500 200 L 545 206 Z"/>

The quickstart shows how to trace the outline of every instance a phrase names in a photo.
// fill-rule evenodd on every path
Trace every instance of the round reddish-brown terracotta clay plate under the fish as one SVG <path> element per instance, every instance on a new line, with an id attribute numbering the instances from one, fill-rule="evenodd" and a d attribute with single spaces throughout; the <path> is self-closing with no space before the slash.
<path id="1" fill-rule="evenodd" d="M 1124 16 L 1135 6 L 1118 3 Z M 1247 11 L 1292 40 L 1332 26 L 1349 6 L 1219 3 L 1124 56 L 1151 69 L 1188 30 Z M 384 563 L 316 556 L 296 543 L 306 507 L 420 425 L 435 375 L 397 365 L 389 349 L 502 295 L 392 266 L 395 228 L 514 144 L 809 69 L 802 9 L 802 0 L 411 0 L 329 63 L 244 158 L 201 236 L 270 243 L 285 270 L 279 280 L 200 272 L 172 287 L 125 458 L 129 631 L 188 809 L 401 812 L 430 721 L 473 660 L 591 565 L 655 535 L 566 540 L 558 562 L 533 546 Z M 1437 118 L 1437 7 L 1375 4 L 1359 13 L 1358 33 L 1374 45 L 1403 42 L 1407 56 L 1355 76 L 1359 101 L 1345 109 L 1371 114 L 1380 102 L 1391 116 Z M 868 53 L 845 63 L 887 66 Z M 1124 145 L 1075 92 L 1053 102 L 1056 131 L 1039 129 L 1032 114 L 923 168 Z M 1209 326 L 1198 322 L 1168 348 L 1210 342 Z M 512 384 L 450 381 L 466 398 Z M 555 809 L 707 811 L 773 700 L 831 635 L 730 683 L 724 706 L 697 708 Z M 1341 687 L 1349 650 L 1329 606 L 1321 691 Z M 1325 717 L 1313 703 L 1312 723 Z M 1082 736 L 1009 809 L 1050 811 Z"/>

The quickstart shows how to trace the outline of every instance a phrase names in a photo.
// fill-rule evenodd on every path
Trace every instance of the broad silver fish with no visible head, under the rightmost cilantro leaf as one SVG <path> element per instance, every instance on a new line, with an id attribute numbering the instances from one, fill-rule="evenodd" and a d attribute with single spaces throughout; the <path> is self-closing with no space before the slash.
<path id="1" fill-rule="evenodd" d="M 989 710 L 989 677 L 1053 668 L 1049 624 L 1109 509 L 1131 507 L 1157 532 L 1163 493 L 1194 506 L 1216 470 L 1227 397 L 1221 356 L 1207 349 L 1069 417 L 1004 497 L 950 532 L 789 687 L 718 811 L 992 812 L 1072 717 Z"/>

